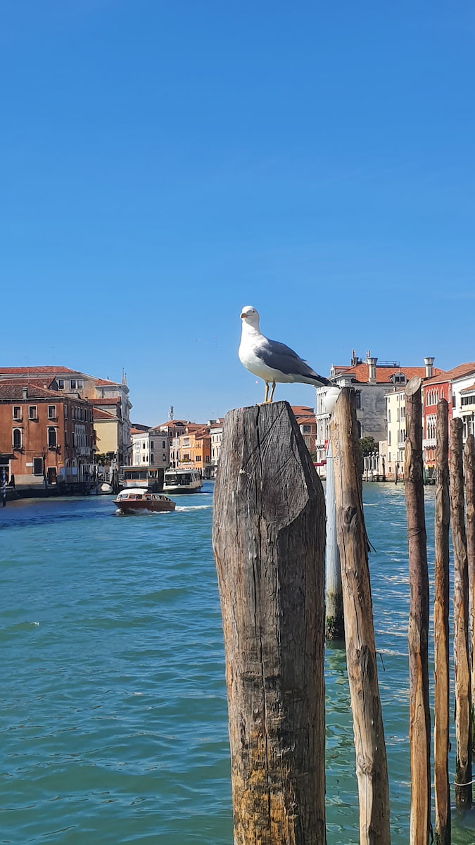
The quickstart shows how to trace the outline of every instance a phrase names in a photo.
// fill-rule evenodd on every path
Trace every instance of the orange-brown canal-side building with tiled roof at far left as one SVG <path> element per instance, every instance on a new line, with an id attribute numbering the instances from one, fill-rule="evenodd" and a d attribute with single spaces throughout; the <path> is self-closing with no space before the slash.
<path id="1" fill-rule="evenodd" d="M 87 401 L 63 395 L 55 379 L 0 382 L 1 468 L 15 487 L 88 482 L 95 433 Z"/>

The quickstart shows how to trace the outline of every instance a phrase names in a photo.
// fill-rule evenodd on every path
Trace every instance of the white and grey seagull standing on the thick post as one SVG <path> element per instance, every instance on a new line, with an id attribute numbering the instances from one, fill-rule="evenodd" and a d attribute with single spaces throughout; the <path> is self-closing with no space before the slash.
<path id="1" fill-rule="evenodd" d="M 243 330 L 239 345 L 239 360 L 249 373 L 259 376 L 265 382 L 265 404 L 271 402 L 276 382 L 298 382 L 314 384 L 315 387 L 333 385 L 325 376 L 315 373 L 294 352 L 290 346 L 279 341 L 270 341 L 259 329 L 259 313 L 252 305 L 245 305 L 241 311 Z M 269 385 L 272 384 L 272 390 Z"/>

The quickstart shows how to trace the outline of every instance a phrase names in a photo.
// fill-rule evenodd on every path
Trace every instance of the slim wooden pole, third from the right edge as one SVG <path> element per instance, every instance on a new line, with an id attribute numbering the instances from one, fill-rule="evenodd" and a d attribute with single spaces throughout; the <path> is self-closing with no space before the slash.
<path id="1" fill-rule="evenodd" d="M 449 407 L 437 406 L 435 450 L 434 793 L 435 842 L 450 845 Z"/>

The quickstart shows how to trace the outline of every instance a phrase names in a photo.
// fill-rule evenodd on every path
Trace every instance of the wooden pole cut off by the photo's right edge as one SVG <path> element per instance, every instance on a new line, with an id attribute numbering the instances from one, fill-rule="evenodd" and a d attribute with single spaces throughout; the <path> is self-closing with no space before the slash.
<path id="1" fill-rule="evenodd" d="M 472 705 L 472 755 L 475 752 L 475 438 L 469 434 L 465 457 L 465 519 L 467 522 L 470 698 Z"/>

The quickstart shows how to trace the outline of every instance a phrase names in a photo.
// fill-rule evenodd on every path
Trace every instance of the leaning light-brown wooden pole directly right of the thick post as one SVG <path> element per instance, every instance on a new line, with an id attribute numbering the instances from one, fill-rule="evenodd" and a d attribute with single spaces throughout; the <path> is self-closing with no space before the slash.
<path id="1" fill-rule="evenodd" d="M 354 390 L 343 388 L 330 422 L 335 472 L 336 529 L 341 558 L 347 668 L 352 700 L 359 795 L 360 842 L 390 842 L 385 732 L 379 700 L 364 526 L 363 460 L 358 442 Z"/>

